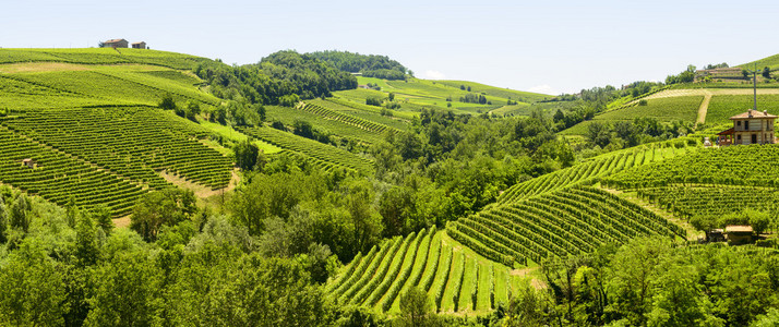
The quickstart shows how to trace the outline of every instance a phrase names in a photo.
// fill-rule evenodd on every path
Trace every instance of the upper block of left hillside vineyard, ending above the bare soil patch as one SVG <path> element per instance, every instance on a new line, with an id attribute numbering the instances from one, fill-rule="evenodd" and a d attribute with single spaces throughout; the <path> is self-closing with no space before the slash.
<path id="1" fill-rule="evenodd" d="M 208 131 L 157 108 L 35 110 L 0 123 L 153 189 L 169 185 L 163 170 L 213 189 L 231 178 L 230 160 L 197 141 Z"/>

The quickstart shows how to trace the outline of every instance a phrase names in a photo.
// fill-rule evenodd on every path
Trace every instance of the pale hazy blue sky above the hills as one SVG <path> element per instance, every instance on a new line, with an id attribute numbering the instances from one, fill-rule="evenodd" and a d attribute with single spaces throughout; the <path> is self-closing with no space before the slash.
<path id="1" fill-rule="evenodd" d="M 389 56 L 418 77 L 549 94 L 779 53 L 776 0 L 4 2 L 5 48 L 125 38 L 239 64 L 338 49 Z"/>

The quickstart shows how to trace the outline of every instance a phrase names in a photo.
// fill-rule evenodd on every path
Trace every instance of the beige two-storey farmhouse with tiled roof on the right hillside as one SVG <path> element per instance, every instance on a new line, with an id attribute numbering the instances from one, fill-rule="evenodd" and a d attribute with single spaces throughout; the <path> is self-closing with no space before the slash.
<path id="1" fill-rule="evenodd" d="M 768 111 L 747 110 L 730 118 L 733 126 L 717 133 L 717 144 L 774 144 L 774 120 L 777 116 Z"/>

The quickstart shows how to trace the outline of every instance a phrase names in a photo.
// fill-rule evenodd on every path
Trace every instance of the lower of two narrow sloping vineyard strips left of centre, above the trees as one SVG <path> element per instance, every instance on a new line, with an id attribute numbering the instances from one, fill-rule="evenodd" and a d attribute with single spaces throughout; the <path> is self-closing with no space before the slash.
<path id="1" fill-rule="evenodd" d="M 373 171 L 372 162 L 358 155 L 313 140 L 272 128 L 239 128 L 241 133 L 260 138 L 290 152 L 291 155 L 303 156 L 312 164 L 332 169 L 341 167 L 361 173 Z"/>

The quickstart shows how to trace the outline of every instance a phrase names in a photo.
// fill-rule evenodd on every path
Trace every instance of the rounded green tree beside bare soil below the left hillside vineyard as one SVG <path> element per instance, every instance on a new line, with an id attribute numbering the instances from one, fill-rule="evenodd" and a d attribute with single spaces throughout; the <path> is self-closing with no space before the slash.
<path id="1" fill-rule="evenodd" d="M 190 219 L 196 211 L 195 196 L 190 190 L 166 189 L 144 194 L 133 207 L 130 229 L 147 241 L 154 241 L 161 226 L 173 226 Z"/>

